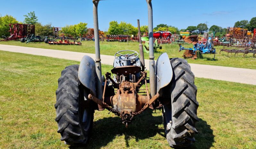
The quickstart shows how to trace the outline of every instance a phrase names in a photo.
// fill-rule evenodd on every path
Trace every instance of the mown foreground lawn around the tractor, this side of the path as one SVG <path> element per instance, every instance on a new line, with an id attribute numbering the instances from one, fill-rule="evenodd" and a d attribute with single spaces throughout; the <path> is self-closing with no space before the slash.
<path id="1" fill-rule="evenodd" d="M 0 51 L 0 148 L 69 148 L 55 122 L 61 71 L 77 61 Z M 111 67 L 103 65 L 103 72 Z M 256 148 L 256 86 L 196 78 L 199 134 L 193 148 Z M 120 118 L 96 111 L 85 148 L 170 148 L 161 111 L 147 110 L 126 129 Z"/>

